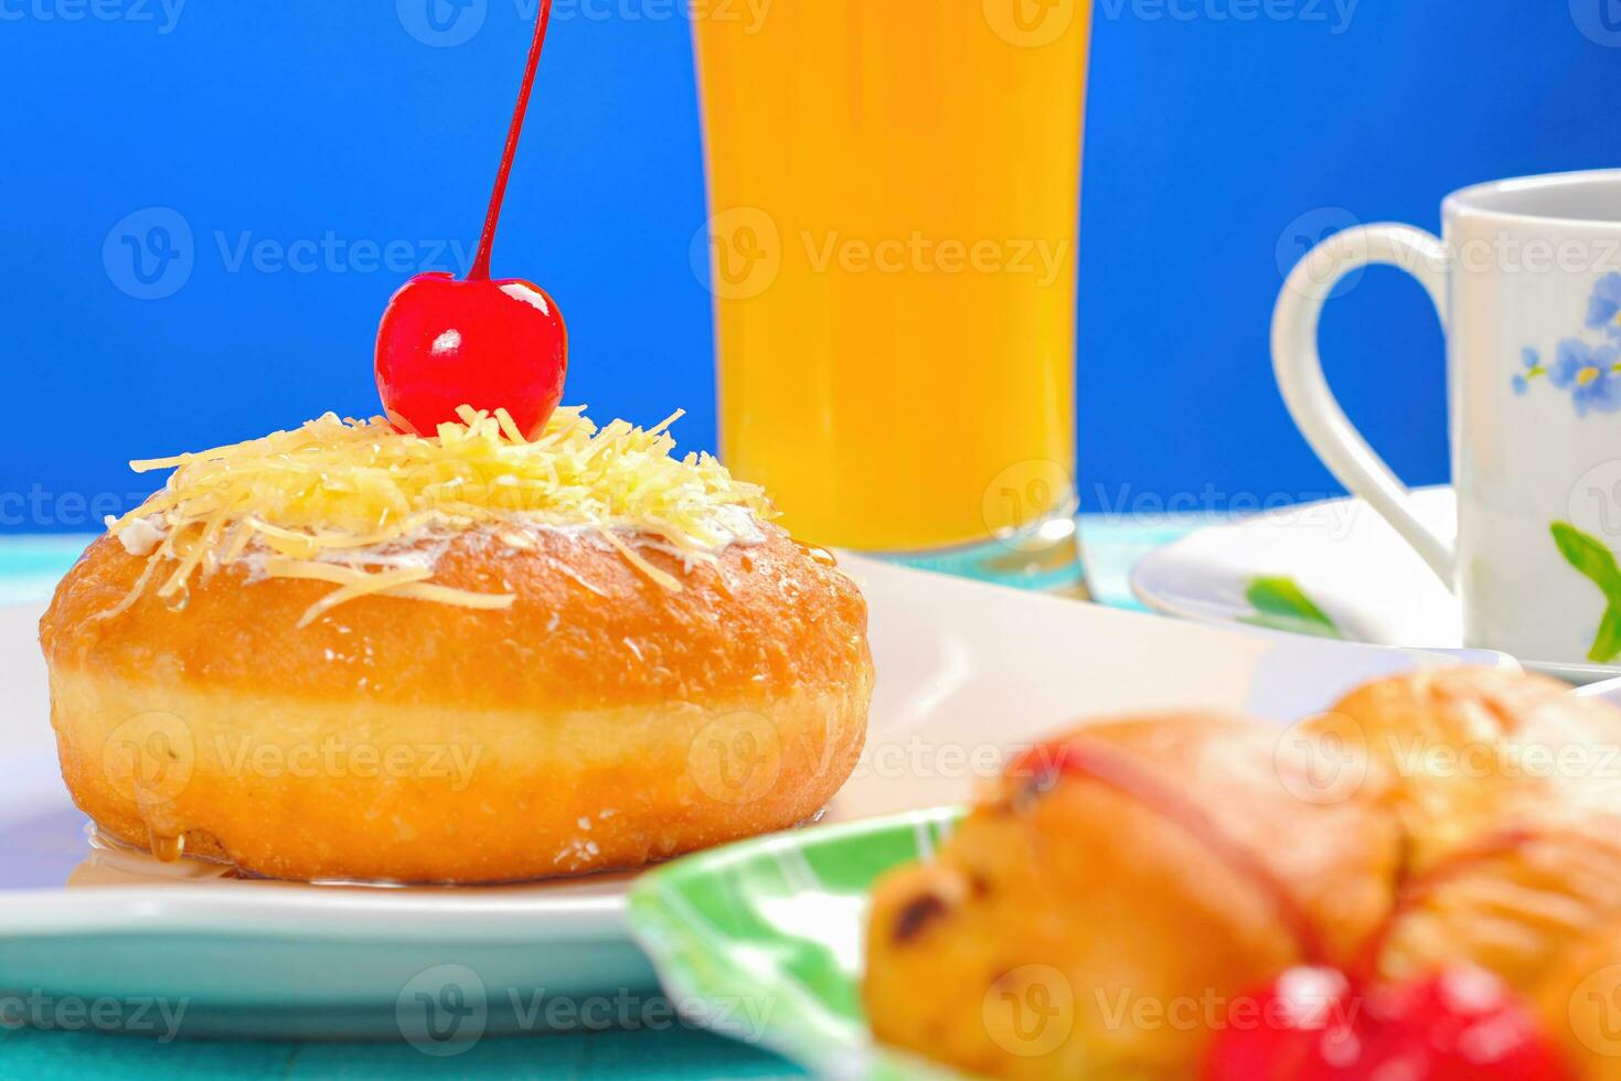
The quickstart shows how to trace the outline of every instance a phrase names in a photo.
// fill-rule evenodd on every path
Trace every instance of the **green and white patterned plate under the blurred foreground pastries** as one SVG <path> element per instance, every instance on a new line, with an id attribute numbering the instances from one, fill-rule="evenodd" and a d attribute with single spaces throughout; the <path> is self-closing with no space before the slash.
<path id="1" fill-rule="evenodd" d="M 927 859 L 961 809 L 744 841 L 644 875 L 631 934 L 671 1000 L 708 1028 L 820 1076 L 952 1078 L 877 1047 L 861 1010 L 867 891 Z"/>

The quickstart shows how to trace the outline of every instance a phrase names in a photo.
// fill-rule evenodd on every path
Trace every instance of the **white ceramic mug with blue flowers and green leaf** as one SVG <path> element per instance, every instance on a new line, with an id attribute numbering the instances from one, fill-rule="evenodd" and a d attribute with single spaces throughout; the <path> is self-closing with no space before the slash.
<path id="1" fill-rule="evenodd" d="M 1284 400 L 1457 593 L 1465 645 L 1621 663 L 1621 170 L 1465 188 L 1441 217 L 1444 240 L 1349 229 L 1294 269 L 1272 316 Z M 1367 264 L 1417 277 L 1446 329 L 1456 541 L 1414 515 L 1323 378 L 1323 303 Z"/>

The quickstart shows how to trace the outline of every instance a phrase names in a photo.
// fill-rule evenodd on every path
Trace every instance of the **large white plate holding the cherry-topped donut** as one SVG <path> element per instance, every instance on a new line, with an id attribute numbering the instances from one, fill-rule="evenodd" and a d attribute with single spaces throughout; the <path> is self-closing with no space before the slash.
<path id="1" fill-rule="evenodd" d="M 867 593 L 879 684 L 862 763 L 823 822 L 961 802 L 1007 754 L 1080 716 L 1208 707 L 1287 723 L 1358 682 L 1459 660 L 845 567 Z M 183 998 L 195 1034 L 394 1039 L 397 1011 L 421 1008 L 413 981 L 446 964 L 478 974 L 490 1031 L 524 1031 L 537 992 L 657 987 L 624 927 L 631 875 L 311 887 L 94 849 L 57 773 L 37 616 L 0 608 L 0 987 Z"/>

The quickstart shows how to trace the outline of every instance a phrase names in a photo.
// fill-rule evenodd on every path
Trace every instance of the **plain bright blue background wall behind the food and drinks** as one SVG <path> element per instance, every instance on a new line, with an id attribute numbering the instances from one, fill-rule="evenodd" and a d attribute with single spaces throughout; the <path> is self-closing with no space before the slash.
<path id="1" fill-rule="evenodd" d="M 436 241 L 470 250 L 481 222 L 533 10 L 483 2 L 477 34 L 433 47 L 410 32 L 423 0 L 190 0 L 178 16 L 175 0 L 0 0 L 0 493 L 34 493 L 21 514 L 16 498 L 0 506 L 0 528 L 89 528 L 86 496 L 143 488 L 130 457 L 376 412 L 384 301 L 436 254 L 459 269 Z M 930 0 L 947 2 L 976 0 Z M 1345 0 L 1271 0 L 1287 18 L 1253 21 L 1234 15 L 1256 0 L 1097 0 L 1080 295 L 1089 507 L 1334 491 L 1268 363 L 1298 238 L 1355 220 L 1435 229 L 1461 185 L 1621 164 L 1621 34 L 1597 21 L 1613 2 L 1362 0 L 1347 26 Z M 569 400 L 637 421 L 684 405 L 678 436 L 708 447 L 689 28 L 647 0 L 590 11 L 601 18 L 575 3 L 554 23 L 494 269 L 559 298 Z M 141 300 L 120 233 L 162 224 L 151 207 L 183 219 L 193 259 L 178 292 Z M 245 240 L 327 235 L 404 241 L 410 266 L 345 251 L 308 272 L 251 256 L 232 269 Z M 1324 353 L 1397 472 L 1443 480 L 1441 337 L 1418 287 L 1368 272 L 1331 305 Z"/>

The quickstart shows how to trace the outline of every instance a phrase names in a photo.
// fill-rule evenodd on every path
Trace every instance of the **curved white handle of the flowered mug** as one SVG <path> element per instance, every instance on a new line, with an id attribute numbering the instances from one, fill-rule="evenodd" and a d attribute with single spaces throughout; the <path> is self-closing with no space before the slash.
<path id="1" fill-rule="evenodd" d="M 1332 267 L 1328 276 L 1316 272 L 1324 264 Z M 1347 229 L 1313 248 L 1289 274 L 1272 311 L 1272 371 L 1289 415 L 1329 472 L 1384 515 L 1452 588 L 1456 559 L 1451 543 L 1418 520 L 1412 493 L 1352 426 L 1323 378 L 1323 358 L 1318 355 L 1323 303 L 1341 279 L 1375 264 L 1394 266 L 1417 277 L 1446 327 L 1446 245 L 1407 225 Z"/>

